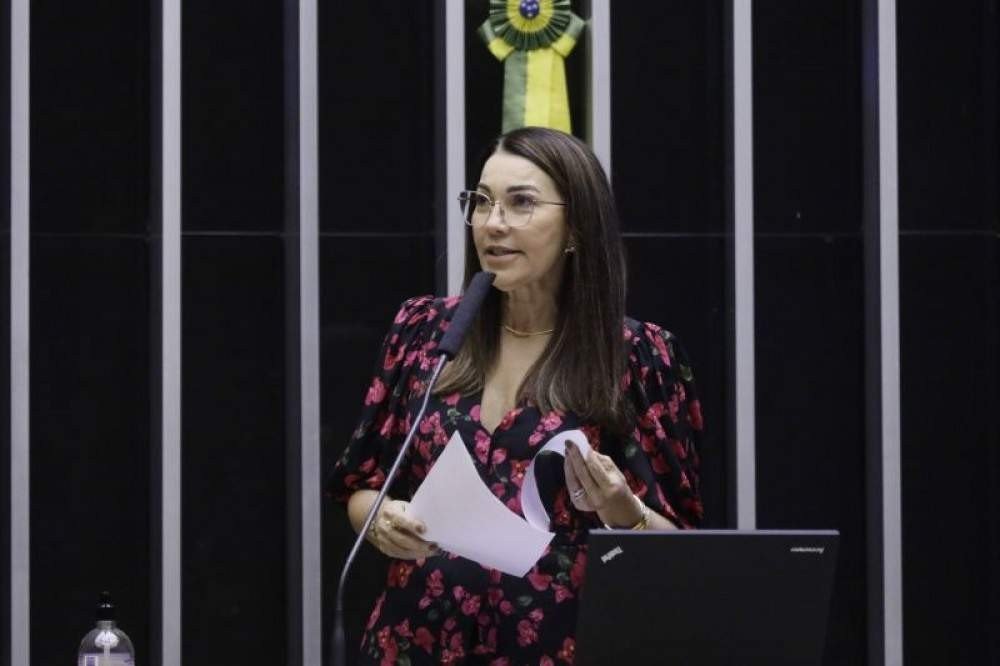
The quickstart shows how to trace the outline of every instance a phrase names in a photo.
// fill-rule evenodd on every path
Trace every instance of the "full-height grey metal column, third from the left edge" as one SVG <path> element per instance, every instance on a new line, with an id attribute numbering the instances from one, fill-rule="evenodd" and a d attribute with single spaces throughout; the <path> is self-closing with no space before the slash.
<path id="1" fill-rule="evenodd" d="M 316 0 L 299 0 L 299 377 L 302 663 L 323 648 L 320 489 L 319 66 Z"/>

